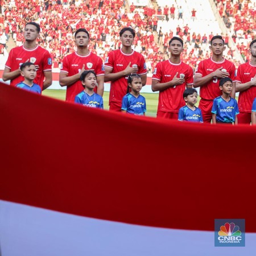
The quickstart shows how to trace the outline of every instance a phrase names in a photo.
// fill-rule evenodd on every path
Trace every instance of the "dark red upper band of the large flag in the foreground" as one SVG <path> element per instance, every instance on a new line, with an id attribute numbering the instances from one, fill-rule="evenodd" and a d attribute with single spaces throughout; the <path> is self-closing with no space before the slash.
<path id="1" fill-rule="evenodd" d="M 81 216 L 256 232 L 256 126 L 136 117 L 0 85 L 0 199 Z M 222 184 L 228 182 L 232 189 Z"/>

